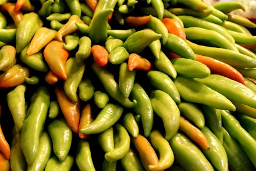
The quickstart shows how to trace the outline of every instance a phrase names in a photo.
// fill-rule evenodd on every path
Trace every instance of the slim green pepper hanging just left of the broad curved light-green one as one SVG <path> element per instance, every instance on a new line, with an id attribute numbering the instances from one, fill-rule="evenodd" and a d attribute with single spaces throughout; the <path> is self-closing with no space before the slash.
<path id="1" fill-rule="evenodd" d="M 143 131 L 145 137 L 150 136 L 153 123 L 154 112 L 151 105 L 150 97 L 147 92 L 139 83 L 134 83 L 130 93 L 131 99 L 137 101 L 137 104 L 133 107 L 134 112 L 140 115 L 141 123 L 143 125 Z"/>

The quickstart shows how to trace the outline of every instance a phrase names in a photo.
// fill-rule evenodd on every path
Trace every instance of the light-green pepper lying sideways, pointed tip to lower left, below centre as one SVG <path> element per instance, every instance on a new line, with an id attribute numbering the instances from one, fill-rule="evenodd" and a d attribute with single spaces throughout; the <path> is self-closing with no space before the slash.
<path id="1" fill-rule="evenodd" d="M 98 113 L 95 120 L 88 126 L 80 129 L 82 134 L 98 134 L 109 129 L 115 124 L 123 113 L 123 108 L 119 104 L 106 104 Z"/>

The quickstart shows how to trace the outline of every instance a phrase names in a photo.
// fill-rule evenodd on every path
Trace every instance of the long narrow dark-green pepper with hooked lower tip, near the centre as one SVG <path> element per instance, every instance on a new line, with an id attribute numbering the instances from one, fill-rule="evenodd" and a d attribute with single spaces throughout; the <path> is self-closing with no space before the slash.
<path id="1" fill-rule="evenodd" d="M 137 104 L 135 99 L 130 101 L 129 98 L 123 96 L 122 92 L 119 90 L 118 83 L 116 83 L 110 70 L 106 69 L 105 67 L 98 66 L 97 63 L 93 63 L 91 67 L 94 73 L 97 75 L 98 79 L 101 81 L 106 92 L 113 99 L 118 101 L 120 105 L 126 108 L 133 108 Z"/>

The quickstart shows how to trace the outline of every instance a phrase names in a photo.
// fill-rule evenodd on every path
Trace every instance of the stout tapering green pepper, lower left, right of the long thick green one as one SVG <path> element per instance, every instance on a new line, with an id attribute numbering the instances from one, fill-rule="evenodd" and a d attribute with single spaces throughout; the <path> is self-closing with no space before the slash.
<path id="1" fill-rule="evenodd" d="M 72 144 L 72 130 L 64 118 L 53 120 L 47 128 L 52 140 L 54 154 L 59 161 L 65 161 Z"/>

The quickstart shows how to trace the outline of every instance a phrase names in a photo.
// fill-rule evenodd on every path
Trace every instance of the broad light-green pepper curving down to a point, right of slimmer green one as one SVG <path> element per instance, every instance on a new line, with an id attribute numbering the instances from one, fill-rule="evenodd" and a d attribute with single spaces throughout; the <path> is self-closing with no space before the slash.
<path id="1" fill-rule="evenodd" d="M 162 119 L 165 128 L 165 139 L 169 141 L 179 130 L 179 108 L 170 95 L 162 90 L 152 90 L 150 101 L 153 111 Z"/>

